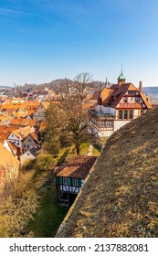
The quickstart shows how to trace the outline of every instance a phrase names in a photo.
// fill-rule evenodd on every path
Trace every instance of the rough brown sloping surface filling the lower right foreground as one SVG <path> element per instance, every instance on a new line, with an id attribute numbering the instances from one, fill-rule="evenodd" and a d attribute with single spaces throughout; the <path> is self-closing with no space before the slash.
<path id="1" fill-rule="evenodd" d="M 158 237 L 158 109 L 111 135 L 56 237 Z"/>

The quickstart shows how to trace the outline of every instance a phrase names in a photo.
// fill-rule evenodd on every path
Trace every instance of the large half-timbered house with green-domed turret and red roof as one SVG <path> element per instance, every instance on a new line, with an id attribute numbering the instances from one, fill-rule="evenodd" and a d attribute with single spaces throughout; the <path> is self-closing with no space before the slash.
<path id="1" fill-rule="evenodd" d="M 111 88 L 97 91 L 97 103 L 90 108 L 90 133 L 98 137 L 110 136 L 121 126 L 152 109 L 149 99 L 142 92 L 142 82 L 137 89 L 132 82 L 126 83 L 122 74 Z"/>

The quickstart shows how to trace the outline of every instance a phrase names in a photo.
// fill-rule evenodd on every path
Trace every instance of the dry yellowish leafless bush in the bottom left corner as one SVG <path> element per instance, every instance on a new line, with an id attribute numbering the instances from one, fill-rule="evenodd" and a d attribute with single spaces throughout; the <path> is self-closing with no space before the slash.
<path id="1" fill-rule="evenodd" d="M 23 237 L 23 230 L 38 206 L 34 172 L 20 173 L 0 197 L 0 237 Z"/>

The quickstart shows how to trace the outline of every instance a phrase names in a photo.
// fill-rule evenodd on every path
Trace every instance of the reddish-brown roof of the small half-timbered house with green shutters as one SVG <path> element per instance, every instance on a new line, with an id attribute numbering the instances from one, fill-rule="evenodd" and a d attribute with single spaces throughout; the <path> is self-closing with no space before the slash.
<path id="1" fill-rule="evenodd" d="M 96 158 L 96 156 L 77 155 L 67 165 L 56 167 L 56 174 L 57 176 L 85 179 Z"/>

